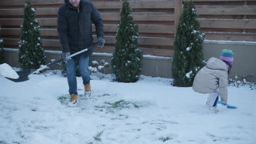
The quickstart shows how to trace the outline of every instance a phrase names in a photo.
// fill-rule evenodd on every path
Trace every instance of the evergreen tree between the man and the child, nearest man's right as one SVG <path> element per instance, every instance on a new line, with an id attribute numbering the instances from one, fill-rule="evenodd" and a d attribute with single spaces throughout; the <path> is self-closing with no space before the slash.
<path id="1" fill-rule="evenodd" d="M 130 4 L 125 0 L 111 59 L 115 80 L 119 82 L 136 82 L 141 72 L 142 52 L 138 49 L 138 26 L 135 25 L 131 12 Z"/>

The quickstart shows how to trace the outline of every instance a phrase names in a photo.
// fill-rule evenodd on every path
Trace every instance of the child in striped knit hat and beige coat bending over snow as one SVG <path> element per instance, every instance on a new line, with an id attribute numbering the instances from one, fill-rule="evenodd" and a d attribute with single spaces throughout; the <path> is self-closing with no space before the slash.
<path id="1" fill-rule="evenodd" d="M 228 101 L 228 77 L 233 63 L 233 52 L 222 50 L 220 58 L 211 57 L 205 67 L 195 76 L 193 89 L 198 93 L 209 93 L 206 105 L 209 110 L 218 112 L 217 101 Z"/>

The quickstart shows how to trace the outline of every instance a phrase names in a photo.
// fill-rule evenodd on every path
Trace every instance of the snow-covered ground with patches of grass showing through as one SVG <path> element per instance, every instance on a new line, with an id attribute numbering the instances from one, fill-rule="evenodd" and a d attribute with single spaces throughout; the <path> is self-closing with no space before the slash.
<path id="1" fill-rule="evenodd" d="M 33 74 L 15 83 L 0 76 L 0 143 L 222 143 L 253 144 L 255 90 L 229 87 L 228 103 L 208 113 L 207 94 L 173 87 L 171 79 L 141 76 L 136 83 L 92 75 L 92 95 L 68 107 L 60 71 Z"/>

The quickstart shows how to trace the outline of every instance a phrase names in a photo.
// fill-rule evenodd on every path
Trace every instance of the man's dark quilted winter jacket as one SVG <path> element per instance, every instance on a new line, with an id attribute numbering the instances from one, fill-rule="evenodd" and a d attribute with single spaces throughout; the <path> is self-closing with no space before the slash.
<path id="1" fill-rule="evenodd" d="M 94 4 L 87 0 L 80 1 L 79 9 L 68 0 L 58 11 L 57 31 L 62 52 L 75 53 L 92 45 L 92 23 L 96 27 L 97 38 L 104 38 L 103 21 Z M 84 52 L 91 55 L 92 50 Z"/>

